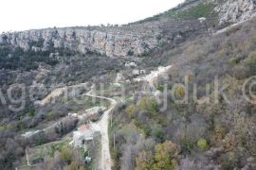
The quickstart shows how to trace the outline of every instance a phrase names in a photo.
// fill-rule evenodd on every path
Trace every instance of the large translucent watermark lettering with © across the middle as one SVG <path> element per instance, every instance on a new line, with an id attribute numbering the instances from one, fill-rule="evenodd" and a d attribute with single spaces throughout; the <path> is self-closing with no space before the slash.
<path id="1" fill-rule="evenodd" d="M 136 93 L 141 96 L 147 94 L 155 97 L 158 103 L 162 103 L 162 108 L 160 109 L 162 111 L 168 108 L 170 96 L 177 105 L 189 104 L 191 101 L 197 105 L 218 104 L 220 103 L 220 98 L 222 102 L 228 105 L 232 102 L 232 98 L 227 95 L 229 83 L 221 82 L 218 76 L 214 76 L 211 83 L 203 85 L 205 93 L 200 98 L 197 96 L 198 84 L 190 82 L 189 76 L 184 76 L 183 83 L 174 83 L 171 88 L 169 83 L 166 81 L 161 84 L 161 90 L 159 90 L 157 83 L 145 81 L 142 82 Z M 241 97 L 250 104 L 256 104 L 256 76 L 247 78 L 242 84 L 240 89 Z M 97 96 L 107 94 L 109 97 L 114 93 L 115 95 L 118 93 L 120 98 L 127 98 L 127 95 L 129 95 L 127 89 L 125 89 L 127 86 L 119 84 L 117 87 L 111 92 L 109 91 L 109 85 L 101 82 L 97 84 L 82 83 L 74 86 L 60 85 L 60 87 L 48 87 L 44 84 L 33 84 L 31 86 L 13 84 L 9 88 L 5 88 L 5 90 L 0 89 L 0 106 L 6 106 L 10 111 L 19 112 L 26 109 L 27 103 L 32 103 L 35 107 L 54 105 L 58 102 L 65 104 L 69 100 L 74 101 L 75 104 L 82 104 L 84 103 L 82 96 L 86 96 L 89 93 Z M 200 84 L 200 87 L 202 87 L 202 84 Z M 181 96 L 177 96 L 177 93 L 181 93 Z M 90 102 L 92 103 L 99 102 L 96 101 L 96 97 L 92 96 L 88 96 L 86 100 L 91 100 Z"/>

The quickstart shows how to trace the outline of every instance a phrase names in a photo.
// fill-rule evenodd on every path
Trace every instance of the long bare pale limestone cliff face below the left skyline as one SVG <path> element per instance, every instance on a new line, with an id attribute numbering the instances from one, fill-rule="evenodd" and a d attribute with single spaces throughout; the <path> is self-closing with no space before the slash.
<path id="1" fill-rule="evenodd" d="M 144 34 L 121 28 L 89 30 L 85 28 L 52 28 L 7 33 L 0 43 L 19 46 L 24 50 L 43 50 L 50 47 L 66 48 L 85 54 L 96 52 L 108 57 L 141 56 L 157 47 L 157 31 Z M 40 44 L 42 43 L 42 44 Z M 36 45 L 35 45 L 36 44 Z"/>

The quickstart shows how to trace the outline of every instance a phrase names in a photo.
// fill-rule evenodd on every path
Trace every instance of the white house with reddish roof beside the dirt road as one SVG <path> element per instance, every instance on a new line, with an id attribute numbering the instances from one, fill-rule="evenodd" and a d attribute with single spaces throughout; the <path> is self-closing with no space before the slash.
<path id="1" fill-rule="evenodd" d="M 74 147 L 84 147 L 86 148 L 86 144 L 90 141 L 93 141 L 94 137 L 94 129 L 93 127 L 88 125 L 82 125 L 78 127 L 77 131 L 73 133 L 73 141 L 70 143 Z"/>

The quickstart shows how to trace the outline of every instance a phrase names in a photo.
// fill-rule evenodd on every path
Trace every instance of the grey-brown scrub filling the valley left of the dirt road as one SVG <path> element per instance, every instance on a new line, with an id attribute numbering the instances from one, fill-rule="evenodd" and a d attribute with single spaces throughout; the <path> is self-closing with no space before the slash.
<path id="1" fill-rule="evenodd" d="M 20 53 L 22 54 L 21 59 L 28 58 L 26 57 L 28 52 L 21 50 Z M 29 60 L 26 62 L 14 60 L 14 65 L 11 68 L 6 68 L 6 62 L 1 62 L 5 66 L 3 66 L 3 69 L 1 70 L 0 89 L 1 94 L 3 94 L 5 99 L 7 99 L 7 103 L 2 103 L 2 100 L 0 102 L 0 169 L 12 169 L 21 165 L 20 159 L 24 157 L 25 148 L 27 146 L 46 144 L 48 142 L 58 140 L 70 130 L 74 130 L 75 127 L 77 127 L 77 122 L 70 122 L 69 120 L 64 119 L 69 112 L 85 110 L 93 107 L 95 104 L 98 104 L 98 102 L 96 102 L 92 105 L 92 103 L 90 103 L 91 100 L 84 97 L 83 99 L 81 97 L 78 98 L 79 101 L 82 101 L 81 104 L 75 103 L 71 98 L 64 100 L 63 97 L 60 97 L 54 104 L 46 105 L 43 108 L 37 108 L 34 106 L 34 100 L 31 100 L 28 96 L 28 94 L 31 93 L 29 92 L 29 89 L 32 87 L 33 81 L 42 83 L 46 88 L 45 93 L 38 93 L 40 92 L 40 89 L 33 89 L 32 93 L 35 93 L 33 97 L 36 100 L 41 100 L 46 97 L 47 93 L 50 93 L 56 88 L 56 84 L 60 86 L 72 85 L 87 82 L 92 79 L 93 76 L 99 78 L 101 75 L 111 75 L 112 73 L 116 73 L 116 69 L 119 69 L 122 63 L 120 61 L 121 59 L 108 59 L 95 54 L 88 54 L 86 56 L 79 54 L 66 56 L 66 53 L 64 53 L 65 55 L 61 56 L 61 60 L 58 59 L 58 63 L 51 66 L 44 60 L 48 57 L 48 54 L 42 55 L 34 52 L 32 54 L 35 55 L 35 60 Z M 43 60 L 37 60 L 37 55 L 39 55 L 39 58 Z M 20 65 L 20 63 L 26 64 L 27 69 Z M 30 66 L 32 63 L 44 65 L 43 71 L 36 69 L 36 67 L 31 68 Z M 9 105 L 15 106 L 15 104 L 9 101 L 7 94 L 10 85 L 16 83 L 26 85 L 26 106 L 24 110 L 20 110 L 18 112 L 9 110 Z M 20 88 L 15 89 L 12 93 L 14 98 L 21 98 L 20 90 Z M 84 91 L 79 93 L 84 93 Z M 18 106 L 20 106 L 20 104 L 18 104 Z M 97 118 L 93 118 L 97 120 Z M 33 139 L 29 140 L 20 136 L 27 130 L 41 129 L 42 127 L 53 125 L 63 119 L 64 124 L 62 124 L 62 126 L 49 129 L 48 136 L 46 136 L 46 133 L 44 132 L 38 133 L 38 135 L 34 136 Z M 56 156 L 56 160 L 52 160 L 52 157 L 49 157 L 49 161 L 46 161 L 46 166 L 48 164 L 48 168 L 54 167 L 56 164 L 51 164 L 53 161 L 60 163 L 59 165 L 61 168 L 64 168 L 64 166 L 66 166 L 65 168 L 68 168 L 68 166 L 74 167 L 76 165 L 74 164 L 75 162 L 72 163 L 72 161 L 64 162 L 62 159 L 58 160 Z M 76 163 L 79 168 L 81 162 L 76 161 Z"/>

